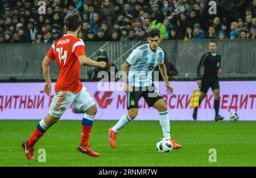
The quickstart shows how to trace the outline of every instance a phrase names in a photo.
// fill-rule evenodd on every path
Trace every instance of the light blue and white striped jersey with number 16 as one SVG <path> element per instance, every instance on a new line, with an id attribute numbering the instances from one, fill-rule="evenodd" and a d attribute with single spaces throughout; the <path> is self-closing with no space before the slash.
<path id="1" fill-rule="evenodd" d="M 148 86 L 152 84 L 154 68 L 164 63 L 164 52 L 158 47 L 154 53 L 149 44 L 143 44 L 131 52 L 127 63 L 131 65 L 128 74 L 129 85 Z"/>

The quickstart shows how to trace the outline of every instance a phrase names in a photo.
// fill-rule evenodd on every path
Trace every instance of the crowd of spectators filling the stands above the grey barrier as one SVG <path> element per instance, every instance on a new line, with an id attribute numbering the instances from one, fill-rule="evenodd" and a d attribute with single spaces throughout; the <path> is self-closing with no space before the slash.
<path id="1" fill-rule="evenodd" d="M 255 39 L 256 0 L 0 0 L 0 43 L 52 43 L 64 33 L 64 19 L 78 13 L 79 37 L 87 42 L 146 40 L 158 28 L 164 40 Z"/>

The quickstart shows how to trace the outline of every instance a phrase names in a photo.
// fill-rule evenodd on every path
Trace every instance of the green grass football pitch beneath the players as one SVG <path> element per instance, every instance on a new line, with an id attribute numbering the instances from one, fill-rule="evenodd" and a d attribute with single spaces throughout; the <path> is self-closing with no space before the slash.
<path id="1" fill-rule="evenodd" d="M 256 122 L 171 121 L 171 136 L 183 147 L 156 151 L 162 138 L 158 121 L 133 121 L 119 131 L 117 147 L 107 130 L 117 121 L 94 121 L 90 145 L 100 154 L 91 158 L 76 151 L 81 121 L 59 121 L 35 145 L 34 160 L 26 159 L 20 143 L 39 121 L 0 121 L 0 166 L 256 166 Z M 46 150 L 40 163 L 38 150 Z M 216 162 L 209 150 L 216 150 Z"/>

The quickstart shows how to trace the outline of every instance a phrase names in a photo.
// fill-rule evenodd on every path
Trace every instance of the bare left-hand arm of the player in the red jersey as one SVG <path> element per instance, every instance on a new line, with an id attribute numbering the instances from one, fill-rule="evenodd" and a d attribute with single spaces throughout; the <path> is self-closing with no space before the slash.
<path id="1" fill-rule="evenodd" d="M 53 61 L 53 59 L 49 57 L 44 57 L 42 68 L 43 68 L 43 74 L 44 74 L 44 80 L 46 80 L 46 85 L 44 86 L 44 93 L 46 93 L 48 96 L 51 93 L 51 76 L 49 74 L 49 64 Z"/>

